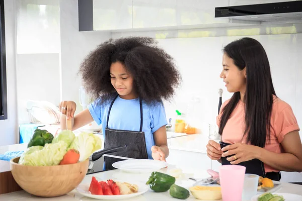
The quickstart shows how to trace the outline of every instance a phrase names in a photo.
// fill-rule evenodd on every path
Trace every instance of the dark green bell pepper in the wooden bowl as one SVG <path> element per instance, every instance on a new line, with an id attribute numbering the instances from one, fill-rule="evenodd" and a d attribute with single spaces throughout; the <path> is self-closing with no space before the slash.
<path id="1" fill-rule="evenodd" d="M 27 147 L 32 146 L 44 146 L 47 143 L 51 143 L 53 135 L 46 130 L 36 129 Z"/>

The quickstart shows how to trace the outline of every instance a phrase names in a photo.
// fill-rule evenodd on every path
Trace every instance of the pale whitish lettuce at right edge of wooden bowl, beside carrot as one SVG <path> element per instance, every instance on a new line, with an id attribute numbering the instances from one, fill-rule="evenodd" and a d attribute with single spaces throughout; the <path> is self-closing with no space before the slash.
<path id="1" fill-rule="evenodd" d="M 81 133 L 75 137 L 69 149 L 77 149 L 80 152 L 79 161 L 85 161 L 93 152 L 102 148 L 102 140 L 93 133 Z"/>

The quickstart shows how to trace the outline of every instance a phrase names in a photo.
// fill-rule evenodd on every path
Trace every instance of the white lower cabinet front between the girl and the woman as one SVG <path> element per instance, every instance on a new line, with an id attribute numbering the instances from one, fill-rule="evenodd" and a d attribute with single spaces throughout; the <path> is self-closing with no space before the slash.
<path id="1" fill-rule="evenodd" d="M 211 159 L 205 153 L 170 149 L 167 162 L 181 169 L 211 169 Z"/>

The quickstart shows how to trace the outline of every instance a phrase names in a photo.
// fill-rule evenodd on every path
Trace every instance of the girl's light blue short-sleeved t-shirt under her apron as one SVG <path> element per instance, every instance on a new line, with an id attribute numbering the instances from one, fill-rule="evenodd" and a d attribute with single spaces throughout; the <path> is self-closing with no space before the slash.
<path id="1" fill-rule="evenodd" d="M 95 100 L 88 106 L 89 112 L 94 121 L 102 124 L 103 135 L 105 137 L 105 128 L 107 123 L 107 115 L 111 102 L 108 104 L 100 104 L 100 98 Z M 145 134 L 146 149 L 149 159 L 152 158 L 151 147 L 155 145 L 153 133 L 162 126 L 167 125 L 166 113 L 163 104 L 147 105 L 142 100 L 143 125 L 142 131 Z M 118 96 L 113 103 L 110 111 L 108 128 L 139 131 L 140 127 L 140 108 L 139 98 L 123 99 Z"/>

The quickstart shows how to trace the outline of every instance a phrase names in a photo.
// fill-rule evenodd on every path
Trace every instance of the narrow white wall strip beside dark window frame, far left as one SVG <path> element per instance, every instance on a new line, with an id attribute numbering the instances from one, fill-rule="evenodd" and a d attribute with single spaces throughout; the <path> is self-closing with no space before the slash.
<path id="1" fill-rule="evenodd" d="M 0 146 L 15 144 L 19 141 L 17 124 L 17 93 L 16 93 L 16 24 L 15 1 L 5 0 L 5 37 L 6 67 L 8 93 L 8 120 L 0 121 Z"/>

